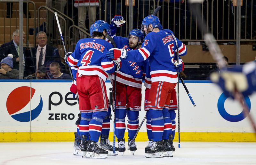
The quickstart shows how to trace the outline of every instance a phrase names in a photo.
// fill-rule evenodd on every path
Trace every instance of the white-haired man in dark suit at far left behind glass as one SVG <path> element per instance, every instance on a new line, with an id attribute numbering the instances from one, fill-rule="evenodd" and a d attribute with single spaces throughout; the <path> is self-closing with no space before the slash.
<path id="1" fill-rule="evenodd" d="M 23 32 L 23 41 L 25 40 L 24 38 L 24 32 Z M 12 58 L 12 62 L 13 62 L 13 68 L 14 69 L 18 69 L 19 70 L 19 64 L 20 64 L 20 30 L 16 29 L 13 33 L 12 33 L 12 41 L 7 42 L 3 45 L 1 45 L 0 47 L 0 54 L 4 54 L 5 57 L 8 54 L 12 54 L 13 58 Z M 23 62 L 22 65 L 24 67 L 25 70 L 25 56 L 24 53 L 25 49 L 23 48 Z"/>

